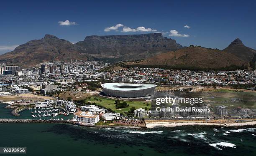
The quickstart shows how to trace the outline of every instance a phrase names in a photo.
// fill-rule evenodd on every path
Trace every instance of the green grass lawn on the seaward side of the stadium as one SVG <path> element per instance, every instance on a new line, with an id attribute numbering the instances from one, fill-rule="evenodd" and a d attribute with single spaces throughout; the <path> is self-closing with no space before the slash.
<path id="1" fill-rule="evenodd" d="M 94 99 L 95 97 L 97 99 L 101 99 L 102 101 L 99 102 L 99 101 L 95 100 Z M 87 99 L 87 102 L 89 102 L 89 101 L 91 101 L 91 103 L 95 102 L 96 104 L 98 104 L 100 106 L 105 106 L 106 108 L 110 108 L 117 113 L 123 113 L 125 111 L 130 111 L 130 108 L 132 106 L 134 106 L 136 109 L 138 109 L 138 108 L 144 109 L 146 107 L 149 110 L 151 108 L 151 102 L 133 102 L 133 101 L 120 100 L 120 102 L 126 102 L 127 104 L 129 104 L 129 106 L 126 108 L 117 109 L 117 108 L 115 108 L 115 99 L 108 99 L 108 98 L 100 97 L 100 96 L 92 96 L 91 99 Z M 147 105 L 147 104 L 149 104 L 149 105 Z"/>

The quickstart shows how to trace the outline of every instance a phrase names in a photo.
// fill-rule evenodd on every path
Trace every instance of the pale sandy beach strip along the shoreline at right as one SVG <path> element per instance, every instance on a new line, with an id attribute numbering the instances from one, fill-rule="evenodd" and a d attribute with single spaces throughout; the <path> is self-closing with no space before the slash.
<path id="1" fill-rule="evenodd" d="M 202 121 L 186 121 L 186 122 L 146 122 L 147 128 L 156 127 L 176 127 L 176 126 L 194 126 L 194 125 L 214 125 L 214 126 L 248 126 L 256 125 L 256 121 L 248 121 L 241 123 L 210 123 Z"/>

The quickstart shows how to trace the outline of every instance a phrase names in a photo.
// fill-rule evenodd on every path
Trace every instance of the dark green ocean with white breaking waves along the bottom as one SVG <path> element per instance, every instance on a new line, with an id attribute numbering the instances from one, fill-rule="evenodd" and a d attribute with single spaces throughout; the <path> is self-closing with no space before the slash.
<path id="1" fill-rule="evenodd" d="M 8 123 L 0 124 L 0 147 L 27 147 L 28 156 L 255 156 L 256 126 L 129 129 Z"/>

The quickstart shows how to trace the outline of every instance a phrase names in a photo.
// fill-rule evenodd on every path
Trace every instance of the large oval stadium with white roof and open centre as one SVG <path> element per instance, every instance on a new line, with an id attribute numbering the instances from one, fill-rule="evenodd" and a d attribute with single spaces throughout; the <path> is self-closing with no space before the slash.
<path id="1" fill-rule="evenodd" d="M 154 94 L 155 84 L 101 84 L 104 94 L 108 97 L 147 97 Z"/>

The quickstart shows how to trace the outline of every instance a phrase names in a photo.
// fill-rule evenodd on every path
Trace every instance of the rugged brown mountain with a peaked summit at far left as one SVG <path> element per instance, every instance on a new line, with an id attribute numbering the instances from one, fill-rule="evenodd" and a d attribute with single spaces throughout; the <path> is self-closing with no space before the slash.
<path id="1" fill-rule="evenodd" d="M 87 60 L 81 49 L 71 42 L 53 35 L 45 35 L 40 40 L 31 40 L 19 45 L 12 52 L 0 56 L 0 62 L 32 66 L 45 61 Z"/>

